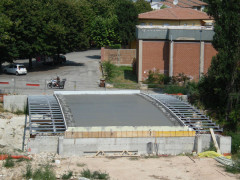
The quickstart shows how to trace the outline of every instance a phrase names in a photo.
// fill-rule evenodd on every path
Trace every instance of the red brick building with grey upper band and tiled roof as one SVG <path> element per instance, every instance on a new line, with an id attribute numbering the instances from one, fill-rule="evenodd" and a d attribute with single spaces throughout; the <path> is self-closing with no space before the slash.
<path id="1" fill-rule="evenodd" d="M 167 8 L 140 14 L 139 20 L 146 23 L 137 26 L 138 81 L 150 70 L 169 76 L 184 73 L 196 81 L 207 73 L 217 52 L 211 44 L 213 27 L 207 24 L 212 19 L 206 13 Z M 157 25 L 147 24 L 150 21 Z"/>

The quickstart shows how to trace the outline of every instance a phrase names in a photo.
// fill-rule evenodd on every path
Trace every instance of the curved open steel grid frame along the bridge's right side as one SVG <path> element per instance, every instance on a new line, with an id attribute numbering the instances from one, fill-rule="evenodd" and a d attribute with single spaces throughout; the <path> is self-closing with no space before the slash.
<path id="1" fill-rule="evenodd" d="M 183 126 L 188 126 L 196 132 L 209 132 L 213 128 L 215 132 L 223 129 L 212 122 L 208 116 L 200 112 L 189 103 L 181 101 L 172 95 L 166 94 L 144 94 L 164 106 Z"/>

